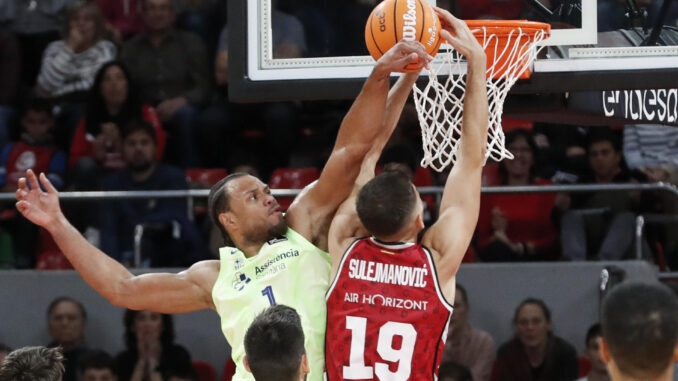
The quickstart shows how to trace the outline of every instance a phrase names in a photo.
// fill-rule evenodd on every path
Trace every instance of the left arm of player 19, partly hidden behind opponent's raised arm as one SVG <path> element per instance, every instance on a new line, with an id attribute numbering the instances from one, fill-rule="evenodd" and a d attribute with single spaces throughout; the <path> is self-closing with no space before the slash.
<path id="1" fill-rule="evenodd" d="M 377 162 L 381 157 L 384 146 L 388 142 L 391 134 L 398 125 L 400 114 L 405 107 L 407 97 L 412 90 L 412 86 L 419 77 L 419 71 L 407 73 L 400 78 L 393 85 L 393 88 L 388 93 L 386 99 L 386 108 L 382 120 L 382 127 L 374 140 L 374 144 L 365 155 L 365 159 L 360 166 L 360 173 L 356 179 L 353 190 L 350 196 L 341 204 L 330 225 L 329 233 L 329 252 L 332 259 L 332 276 L 334 276 L 336 268 L 339 266 L 339 261 L 344 253 L 344 250 L 350 243 L 360 236 L 367 234 L 364 230 L 358 213 L 356 212 L 355 203 L 358 192 L 363 185 L 374 177 L 374 171 L 377 167 Z"/>

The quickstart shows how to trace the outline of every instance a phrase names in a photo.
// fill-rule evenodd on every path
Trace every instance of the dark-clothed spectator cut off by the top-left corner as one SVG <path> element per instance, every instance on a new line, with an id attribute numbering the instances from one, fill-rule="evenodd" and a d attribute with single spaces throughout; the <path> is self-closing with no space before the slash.
<path id="1" fill-rule="evenodd" d="M 59 39 L 66 8 L 75 1 L 0 1 L 0 25 L 7 27 L 19 40 L 22 73 L 18 78 L 24 86 L 32 88 L 35 85 L 45 47 Z"/>

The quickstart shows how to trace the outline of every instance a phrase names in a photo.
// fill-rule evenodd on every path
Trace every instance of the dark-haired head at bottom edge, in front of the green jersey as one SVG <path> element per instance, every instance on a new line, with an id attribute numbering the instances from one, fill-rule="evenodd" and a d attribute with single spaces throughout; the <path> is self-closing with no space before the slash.
<path id="1" fill-rule="evenodd" d="M 245 367 L 257 381 L 298 381 L 309 372 L 301 318 L 278 304 L 257 316 L 245 333 Z"/>

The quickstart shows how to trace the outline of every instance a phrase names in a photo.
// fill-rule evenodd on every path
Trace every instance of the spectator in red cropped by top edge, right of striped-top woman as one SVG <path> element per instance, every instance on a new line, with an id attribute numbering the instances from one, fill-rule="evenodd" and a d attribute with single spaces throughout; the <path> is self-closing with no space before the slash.
<path id="1" fill-rule="evenodd" d="M 119 44 L 143 30 L 142 2 L 143 0 L 96 0 L 113 41 Z"/>

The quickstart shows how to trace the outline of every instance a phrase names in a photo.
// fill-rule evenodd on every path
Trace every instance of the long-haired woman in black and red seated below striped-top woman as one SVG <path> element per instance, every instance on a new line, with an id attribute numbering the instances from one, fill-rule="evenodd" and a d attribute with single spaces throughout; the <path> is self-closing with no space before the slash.
<path id="1" fill-rule="evenodd" d="M 153 107 L 142 104 L 127 68 L 119 61 L 101 67 L 90 92 L 85 117 L 73 136 L 68 164 L 73 189 L 93 190 L 106 171 L 125 166 L 120 129 L 133 119 L 145 120 L 158 138 L 156 158 L 162 159 L 165 132 Z"/>

